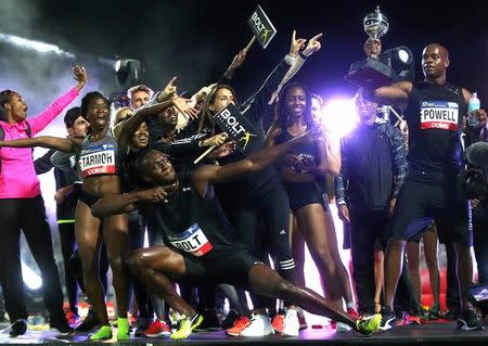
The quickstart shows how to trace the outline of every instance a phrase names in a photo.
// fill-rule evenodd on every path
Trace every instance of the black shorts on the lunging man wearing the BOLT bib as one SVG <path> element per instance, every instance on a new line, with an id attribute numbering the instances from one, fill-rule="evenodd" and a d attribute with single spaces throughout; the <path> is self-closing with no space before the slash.
<path id="1" fill-rule="evenodd" d="M 222 246 L 211 249 L 207 255 L 195 257 L 179 252 L 184 257 L 185 272 L 178 282 L 229 283 L 243 289 L 248 287 L 248 272 L 262 261 L 242 245 Z"/>

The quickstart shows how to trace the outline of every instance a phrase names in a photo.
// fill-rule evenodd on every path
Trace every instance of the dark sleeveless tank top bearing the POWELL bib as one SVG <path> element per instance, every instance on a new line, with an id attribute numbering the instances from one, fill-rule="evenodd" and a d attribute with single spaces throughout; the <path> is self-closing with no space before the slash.
<path id="1" fill-rule="evenodd" d="M 444 179 L 462 169 L 460 133 L 467 112 L 462 89 L 414 84 L 406 110 L 410 130 L 409 171 Z"/>

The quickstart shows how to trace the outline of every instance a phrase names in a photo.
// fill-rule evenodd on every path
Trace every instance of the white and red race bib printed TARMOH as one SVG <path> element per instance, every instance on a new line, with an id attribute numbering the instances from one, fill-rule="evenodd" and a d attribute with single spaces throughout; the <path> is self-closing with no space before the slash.
<path id="1" fill-rule="evenodd" d="M 111 144 L 92 146 L 81 152 L 79 166 L 84 178 L 116 172 L 115 150 Z"/>

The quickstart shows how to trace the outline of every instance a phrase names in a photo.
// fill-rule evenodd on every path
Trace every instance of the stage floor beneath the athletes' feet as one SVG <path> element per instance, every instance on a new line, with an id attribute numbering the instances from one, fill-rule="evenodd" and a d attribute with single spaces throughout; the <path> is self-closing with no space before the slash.
<path id="1" fill-rule="evenodd" d="M 0 325 L 3 329 L 8 325 Z M 100 345 L 91 343 L 87 335 L 57 336 L 53 330 L 31 331 L 25 335 L 9 337 L 8 331 L 0 334 L 0 345 Z M 116 343 L 107 341 L 105 343 Z M 184 341 L 170 338 L 136 338 L 120 342 L 124 346 L 156 345 L 488 345 L 488 331 L 459 331 L 455 322 L 412 324 L 398 326 L 395 330 L 376 332 L 363 336 L 356 332 L 336 332 L 331 329 L 308 329 L 300 332 L 299 337 L 273 335 L 270 337 L 243 338 L 226 336 L 223 331 L 193 333 Z"/>

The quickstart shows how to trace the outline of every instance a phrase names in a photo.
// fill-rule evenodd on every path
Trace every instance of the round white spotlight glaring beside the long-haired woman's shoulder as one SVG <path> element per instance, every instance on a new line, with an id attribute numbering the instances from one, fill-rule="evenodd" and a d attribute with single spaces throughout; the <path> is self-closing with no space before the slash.
<path id="1" fill-rule="evenodd" d="M 359 116 L 352 99 L 332 99 L 322 108 L 321 124 L 331 134 L 343 138 L 358 126 Z"/>

